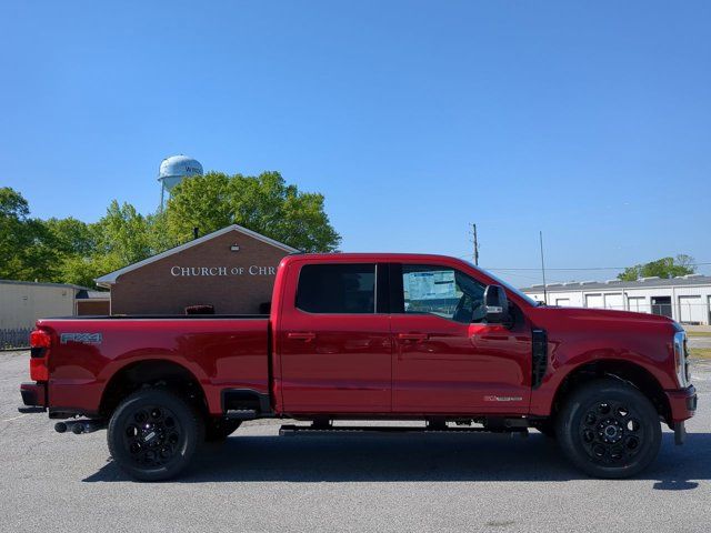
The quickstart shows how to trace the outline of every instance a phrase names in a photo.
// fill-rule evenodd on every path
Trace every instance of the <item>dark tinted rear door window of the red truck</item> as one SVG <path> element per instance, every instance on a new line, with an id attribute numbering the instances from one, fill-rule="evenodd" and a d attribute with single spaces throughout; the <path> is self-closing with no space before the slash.
<path id="1" fill-rule="evenodd" d="M 310 313 L 374 313 L 374 264 L 307 264 L 297 308 Z"/>

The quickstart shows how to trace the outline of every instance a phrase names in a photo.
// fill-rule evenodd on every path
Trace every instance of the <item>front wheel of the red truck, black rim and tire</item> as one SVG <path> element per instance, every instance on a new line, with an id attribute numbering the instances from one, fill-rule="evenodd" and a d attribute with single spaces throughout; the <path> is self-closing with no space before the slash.
<path id="1" fill-rule="evenodd" d="M 558 416 L 558 440 L 573 464 L 594 477 L 629 477 L 657 456 L 659 414 L 638 389 L 614 379 L 573 392 Z"/>

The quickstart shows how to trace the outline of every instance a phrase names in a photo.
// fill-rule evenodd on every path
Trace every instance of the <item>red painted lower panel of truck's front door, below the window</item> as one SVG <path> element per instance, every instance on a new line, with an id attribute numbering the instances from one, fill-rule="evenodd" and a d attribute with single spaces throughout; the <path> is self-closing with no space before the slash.
<path id="1" fill-rule="evenodd" d="M 531 332 L 523 325 L 509 331 L 434 315 L 393 315 L 393 411 L 528 413 Z M 410 333 L 427 339 L 399 339 Z"/>

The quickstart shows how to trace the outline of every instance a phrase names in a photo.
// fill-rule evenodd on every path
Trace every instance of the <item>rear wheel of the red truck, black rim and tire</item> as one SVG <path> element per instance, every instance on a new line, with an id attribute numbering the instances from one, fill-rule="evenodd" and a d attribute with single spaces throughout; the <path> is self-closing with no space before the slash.
<path id="1" fill-rule="evenodd" d="M 131 477 L 161 481 L 178 475 L 204 434 L 202 416 L 182 398 L 143 389 L 123 400 L 109 421 L 109 452 Z"/>

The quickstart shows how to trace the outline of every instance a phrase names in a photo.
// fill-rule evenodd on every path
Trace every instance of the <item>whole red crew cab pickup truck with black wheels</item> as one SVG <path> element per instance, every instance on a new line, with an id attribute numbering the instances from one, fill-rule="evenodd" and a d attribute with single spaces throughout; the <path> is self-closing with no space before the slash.
<path id="1" fill-rule="evenodd" d="M 684 438 L 697 406 L 684 331 L 664 316 L 561 309 L 461 260 L 293 254 L 270 315 L 46 319 L 21 412 L 57 431 L 108 429 L 139 480 L 177 475 L 244 420 L 281 434 L 528 432 L 585 473 L 624 477 Z M 365 420 L 412 426 L 369 428 Z"/>

